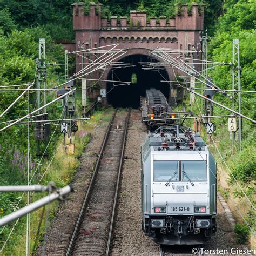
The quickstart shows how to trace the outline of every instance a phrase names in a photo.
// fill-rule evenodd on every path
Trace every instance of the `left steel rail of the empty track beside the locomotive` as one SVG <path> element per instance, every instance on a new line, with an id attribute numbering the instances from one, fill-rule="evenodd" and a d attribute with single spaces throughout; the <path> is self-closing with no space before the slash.
<path id="1" fill-rule="evenodd" d="M 109 138 L 111 124 L 113 123 L 113 120 L 114 120 L 114 117 L 116 116 L 116 113 L 117 113 L 117 110 L 116 110 L 116 112 L 114 112 L 113 117 L 110 120 L 109 125 L 107 126 L 107 131 L 105 133 L 105 137 L 104 137 L 104 140 L 103 140 L 103 143 L 102 143 L 102 148 L 100 149 L 99 156 L 98 156 L 98 159 L 97 159 L 97 163 L 95 165 L 95 169 L 93 171 L 92 178 L 91 178 L 89 187 L 87 188 L 87 192 L 86 192 L 86 195 L 85 195 L 85 198 L 84 198 L 84 203 L 83 203 L 82 208 L 80 210 L 80 213 L 79 213 L 79 216 L 78 216 L 78 219 L 77 219 L 77 222 L 76 222 L 76 226 L 74 228 L 74 231 L 73 231 L 70 243 L 69 243 L 68 250 L 66 251 L 66 256 L 72 255 L 73 248 L 75 247 L 76 238 L 77 238 L 78 232 L 80 230 L 80 226 L 82 225 L 83 216 L 84 216 L 84 213 L 85 213 L 85 210 L 86 210 L 86 206 L 87 206 L 87 204 L 89 202 L 89 198 L 90 198 L 90 194 L 92 192 L 93 184 L 95 183 L 96 174 L 97 174 L 97 172 L 99 170 L 100 159 L 103 156 L 103 151 L 105 149 L 105 146 L 106 146 L 106 143 L 107 143 L 107 139 Z"/>

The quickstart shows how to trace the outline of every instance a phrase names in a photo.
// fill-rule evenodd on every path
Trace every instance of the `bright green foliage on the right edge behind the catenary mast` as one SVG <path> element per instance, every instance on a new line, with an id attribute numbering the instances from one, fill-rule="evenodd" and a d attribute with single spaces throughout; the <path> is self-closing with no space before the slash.
<path id="1" fill-rule="evenodd" d="M 241 88 L 242 90 L 255 91 L 256 89 L 256 4 L 253 0 L 228 0 L 224 4 L 225 15 L 219 18 L 214 36 L 210 40 L 211 59 L 217 62 L 232 62 L 232 41 L 239 39 L 240 65 L 241 65 Z M 211 72 L 214 82 L 223 89 L 232 89 L 231 78 L 232 66 L 219 66 Z M 227 75 L 230 74 L 230 75 Z M 231 100 L 217 96 L 219 102 L 231 106 Z M 250 93 L 242 94 L 242 113 L 256 119 L 255 97 Z M 235 104 L 237 106 L 237 104 Z M 219 113 L 223 110 L 218 109 Z M 239 158 L 232 165 L 235 178 L 250 182 L 256 178 L 255 160 L 255 131 L 252 123 L 244 120 L 244 145 Z"/>

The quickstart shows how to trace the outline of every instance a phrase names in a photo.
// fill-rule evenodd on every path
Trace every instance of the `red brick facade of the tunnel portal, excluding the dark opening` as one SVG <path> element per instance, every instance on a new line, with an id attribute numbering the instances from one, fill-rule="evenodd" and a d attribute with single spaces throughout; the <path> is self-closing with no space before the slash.
<path id="1" fill-rule="evenodd" d="M 191 11 L 188 13 L 187 5 L 183 5 L 182 11 L 176 17 L 166 21 L 166 18 L 156 18 L 147 20 L 145 12 L 130 11 L 130 22 L 127 17 L 112 16 L 110 21 L 101 17 L 100 5 L 97 6 L 91 2 L 90 14 L 85 15 L 83 11 L 83 2 L 73 5 L 73 28 L 76 31 L 75 49 L 81 50 L 83 45 L 85 49 L 89 47 L 106 46 L 113 43 L 119 43 L 118 48 L 127 50 L 126 55 L 149 55 L 149 50 L 163 47 L 171 49 L 184 49 L 185 37 L 189 45 L 197 45 L 200 42 L 199 32 L 203 30 L 204 15 L 199 12 L 198 4 L 193 3 Z M 200 57 L 200 56 L 199 56 Z M 198 58 L 199 58 L 198 57 Z M 81 63 L 81 57 L 76 57 L 76 62 Z M 76 66 L 76 71 L 82 67 Z M 168 75 L 171 78 L 171 71 Z M 95 72 L 95 78 L 102 75 Z M 102 77 L 107 78 L 107 74 Z M 102 89 L 106 84 L 102 83 Z M 93 93 L 96 96 L 99 91 Z M 170 102 L 173 102 L 174 95 L 170 93 Z"/>

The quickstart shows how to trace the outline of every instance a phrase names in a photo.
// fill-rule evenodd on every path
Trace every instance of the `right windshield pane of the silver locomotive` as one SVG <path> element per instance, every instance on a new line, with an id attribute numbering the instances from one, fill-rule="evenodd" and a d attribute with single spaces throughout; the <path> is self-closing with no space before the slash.
<path id="1" fill-rule="evenodd" d="M 207 181 L 205 161 L 181 161 L 181 166 L 181 181 Z"/>

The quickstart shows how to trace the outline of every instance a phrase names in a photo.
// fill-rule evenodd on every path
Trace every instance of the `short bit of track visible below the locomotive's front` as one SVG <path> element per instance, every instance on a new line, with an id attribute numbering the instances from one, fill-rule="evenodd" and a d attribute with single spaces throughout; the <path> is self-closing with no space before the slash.
<path id="1" fill-rule="evenodd" d="M 178 256 L 178 255 L 187 255 L 187 256 L 203 256 L 199 247 L 194 245 L 159 245 L 159 254 L 160 256 Z"/>

